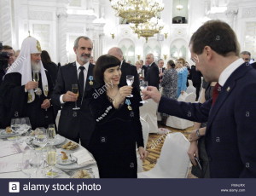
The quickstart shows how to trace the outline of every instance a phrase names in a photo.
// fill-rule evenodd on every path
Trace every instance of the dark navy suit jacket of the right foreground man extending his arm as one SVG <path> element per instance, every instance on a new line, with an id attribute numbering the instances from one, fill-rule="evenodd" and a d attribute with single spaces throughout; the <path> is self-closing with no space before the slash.
<path id="1" fill-rule="evenodd" d="M 159 112 L 195 122 L 207 121 L 205 138 L 212 178 L 256 177 L 255 78 L 251 66 L 239 66 L 213 107 L 212 99 L 201 104 L 161 97 Z"/>

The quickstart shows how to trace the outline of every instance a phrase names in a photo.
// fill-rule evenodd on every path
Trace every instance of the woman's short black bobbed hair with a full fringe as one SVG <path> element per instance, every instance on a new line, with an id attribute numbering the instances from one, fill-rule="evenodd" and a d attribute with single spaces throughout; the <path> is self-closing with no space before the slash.
<path id="1" fill-rule="evenodd" d="M 113 66 L 120 66 L 121 61 L 118 58 L 114 57 L 113 55 L 102 55 L 100 56 L 94 67 L 93 76 L 96 82 L 100 85 L 104 84 L 104 72 L 106 69 L 113 67 Z"/>

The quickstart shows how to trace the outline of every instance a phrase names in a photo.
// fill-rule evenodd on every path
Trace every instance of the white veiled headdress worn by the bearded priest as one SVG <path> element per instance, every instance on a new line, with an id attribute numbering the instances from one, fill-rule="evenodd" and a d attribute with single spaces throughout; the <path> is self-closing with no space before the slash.
<path id="1" fill-rule="evenodd" d="M 31 54 L 41 53 L 42 49 L 40 43 L 34 37 L 26 37 L 21 44 L 20 55 L 16 61 L 9 67 L 7 74 L 12 72 L 20 72 L 21 74 L 21 85 L 26 85 L 29 81 L 32 81 L 32 68 L 31 68 Z M 39 61 L 40 72 L 42 78 L 43 89 L 48 86 L 48 81 L 44 71 L 42 61 Z M 27 102 L 31 103 L 35 100 L 34 89 L 28 90 Z"/>

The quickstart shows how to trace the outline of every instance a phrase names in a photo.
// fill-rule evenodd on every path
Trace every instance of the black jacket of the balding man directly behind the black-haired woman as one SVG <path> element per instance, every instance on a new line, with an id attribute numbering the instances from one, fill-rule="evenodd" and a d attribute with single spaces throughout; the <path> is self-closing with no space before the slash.
<path id="1" fill-rule="evenodd" d="M 131 66 L 131 64 L 123 61 L 123 64 L 121 66 L 121 72 L 122 72 L 122 75 L 120 78 L 119 86 L 126 86 L 127 85 L 126 76 L 132 75 L 132 76 L 134 76 L 134 82 L 132 84 L 132 87 L 137 89 L 137 91 L 139 92 L 140 91 L 140 82 L 139 82 L 136 66 Z"/>

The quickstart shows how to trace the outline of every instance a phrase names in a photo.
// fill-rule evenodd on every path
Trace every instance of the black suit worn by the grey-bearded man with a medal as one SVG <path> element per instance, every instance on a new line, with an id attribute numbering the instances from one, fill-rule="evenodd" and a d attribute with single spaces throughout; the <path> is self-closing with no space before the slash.
<path id="1" fill-rule="evenodd" d="M 89 77 L 93 76 L 93 68 L 94 66 L 90 64 L 84 88 L 84 96 L 77 101 L 80 110 L 73 110 L 75 102 L 65 102 L 62 105 L 58 127 L 60 135 L 73 141 L 79 141 L 80 138 L 83 147 L 87 147 L 89 144 L 90 135 L 94 130 L 94 120 L 91 118 L 87 104 L 88 99 L 85 99 L 88 91 L 96 87 L 95 82 L 92 81 L 93 84 L 91 85 L 89 80 Z M 68 90 L 72 91 L 72 84 L 78 84 L 78 73 L 75 62 L 59 68 L 57 82 L 52 95 L 52 101 L 57 106 L 61 106 L 60 96 L 67 93 Z"/>

